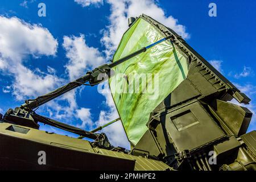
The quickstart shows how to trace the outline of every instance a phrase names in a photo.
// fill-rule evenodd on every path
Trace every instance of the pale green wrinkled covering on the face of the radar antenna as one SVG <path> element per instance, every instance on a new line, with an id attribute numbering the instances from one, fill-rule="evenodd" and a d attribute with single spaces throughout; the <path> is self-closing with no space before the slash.
<path id="1" fill-rule="evenodd" d="M 113 61 L 165 37 L 140 17 L 123 35 Z M 127 138 L 135 145 L 147 130 L 150 113 L 187 77 L 187 57 L 167 40 L 113 69 L 110 90 Z"/>

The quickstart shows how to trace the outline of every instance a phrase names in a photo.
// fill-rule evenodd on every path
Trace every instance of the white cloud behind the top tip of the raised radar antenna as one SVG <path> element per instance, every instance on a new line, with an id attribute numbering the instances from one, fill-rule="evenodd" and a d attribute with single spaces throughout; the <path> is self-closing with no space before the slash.
<path id="1" fill-rule="evenodd" d="M 110 24 L 104 31 L 104 37 L 101 41 L 106 47 L 105 53 L 108 57 L 112 56 L 117 48 L 123 33 L 128 28 L 127 19 L 131 16 L 149 15 L 165 26 L 172 28 L 184 39 L 189 38 L 185 27 L 171 15 L 167 16 L 164 10 L 153 0 L 108 0 L 107 2 L 111 7 Z"/>

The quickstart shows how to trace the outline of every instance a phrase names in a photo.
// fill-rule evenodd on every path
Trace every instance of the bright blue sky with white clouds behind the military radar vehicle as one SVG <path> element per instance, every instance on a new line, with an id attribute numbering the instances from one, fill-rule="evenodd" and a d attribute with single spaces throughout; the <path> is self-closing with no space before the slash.
<path id="1" fill-rule="evenodd" d="M 40 2 L 46 4 L 46 17 L 38 16 Z M 127 28 L 127 17 L 142 13 L 183 35 L 188 44 L 251 98 L 248 107 L 254 112 L 254 0 L 40 2 L 0 2 L 1 113 L 107 62 Z M 217 17 L 208 15 L 211 2 L 217 5 Z M 1 39 L 3 36 L 5 39 Z M 42 40 L 35 41 L 34 36 L 42 36 Z M 77 89 L 40 107 L 38 112 L 84 129 L 118 117 L 111 97 L 98 93 L 97 87 Z M 105 132 L 112 143 L 127 147 L 121 127 L 121 123 L 115 123 Z M 42 129 L 68 134 L 48 126 Z M 249 131 L 255 129 L 253 118 Z"/>

